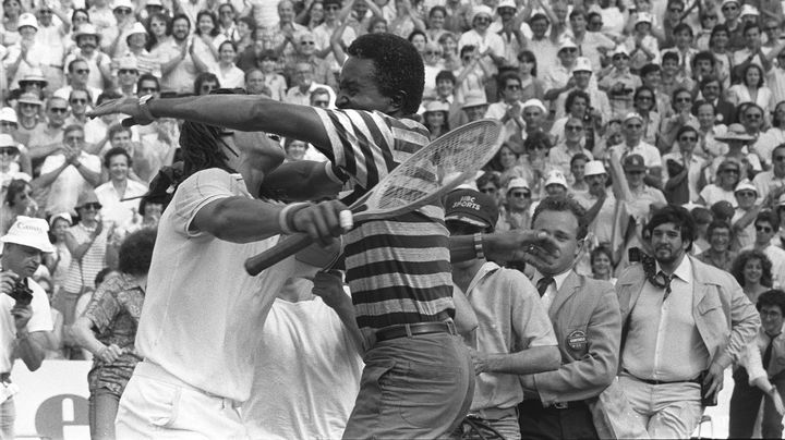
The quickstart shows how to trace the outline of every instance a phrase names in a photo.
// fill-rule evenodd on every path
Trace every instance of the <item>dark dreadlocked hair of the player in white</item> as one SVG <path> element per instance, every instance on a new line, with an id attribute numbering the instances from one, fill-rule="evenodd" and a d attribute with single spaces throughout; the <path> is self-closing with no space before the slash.
<path id="1" fill-rule="evenodd" d="M 219 168 L 237 172 L 227 166 L 224 152 L 227 144 L 220 136 L 221 129 L 200 122 L 185 121 L 180 130 L 180 148 L 183 158 L 183 180 L 197 171 Z M 227 146 L 228 147 L 228 146 Z"/>

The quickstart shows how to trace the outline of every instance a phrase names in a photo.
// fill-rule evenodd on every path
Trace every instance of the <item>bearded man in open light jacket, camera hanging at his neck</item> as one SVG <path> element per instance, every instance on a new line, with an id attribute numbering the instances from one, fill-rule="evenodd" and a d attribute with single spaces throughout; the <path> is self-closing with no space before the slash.
<path id="1" fill-rule="evenodd" d="M 687 255 L 695 221 L 686 209 L 657 210 L 647 230 L 654 258 L 616 283 L 619 384 L 652 438 L 689 438 L 760 318 L 733 276 Z"/>

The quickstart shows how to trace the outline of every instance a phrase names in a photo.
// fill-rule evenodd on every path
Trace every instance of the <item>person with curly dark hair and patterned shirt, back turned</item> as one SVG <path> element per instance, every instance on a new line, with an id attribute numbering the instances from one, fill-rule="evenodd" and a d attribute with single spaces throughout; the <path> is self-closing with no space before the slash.
<path id="1" fill-rule="evenodd" d="M 87 374 L 89 427 L 94 439 L 114 438 L 120 396 L 136 363 L 134 339 L 144 303 L 156 231 L 144 229 L 120 246 L 120 276 L 104 282 L 73 326 L 76 343 L 93 353 Z"/>

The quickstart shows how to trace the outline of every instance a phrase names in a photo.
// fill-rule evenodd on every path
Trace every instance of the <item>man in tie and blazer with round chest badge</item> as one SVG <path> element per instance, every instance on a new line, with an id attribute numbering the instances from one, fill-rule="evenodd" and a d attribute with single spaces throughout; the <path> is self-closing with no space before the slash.
<path id="1" fill-rule="evenodd" d="M 616 376 L 621 318 L 613 285 L 573 270 L 587 234 L 584 216 L 567 197 L 547 197 L 534 211 L 532 229 L 559 245 L 558 259 L 538 265 L 532 281 L 554 326 L 561 366 L 521 378 L 524 439 L 597 438 L 589 405 Z"/>

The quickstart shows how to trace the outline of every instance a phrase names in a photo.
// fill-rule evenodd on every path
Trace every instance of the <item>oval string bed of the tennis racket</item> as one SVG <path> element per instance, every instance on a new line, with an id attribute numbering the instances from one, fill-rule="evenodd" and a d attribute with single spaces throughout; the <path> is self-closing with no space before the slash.
<path id="1" fill-rule="evenodd" d="M 396 209 L 427 198 L 457 179 L 466 180 L 493 157 L 499 124 L 474 124 L 434 140 L 426 154 L 414 154 L 388 174 L 367 200 L 371 209 Z"/>

